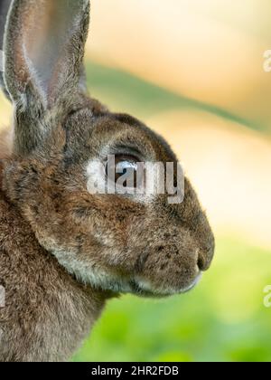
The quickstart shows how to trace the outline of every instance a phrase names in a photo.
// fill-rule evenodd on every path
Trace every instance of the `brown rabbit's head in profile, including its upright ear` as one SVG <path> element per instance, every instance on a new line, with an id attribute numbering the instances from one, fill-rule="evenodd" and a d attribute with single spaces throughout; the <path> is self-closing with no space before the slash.
<path id="1" fill-rule="evenodd" d="M 12 2 L 4 80 L 14 104 L 14 142 L 4 163 L 5 193 L 40 244 L 79 281 L 154 297 L 190 290 L 210 267 L 214 238 L 186 177 L 180 203 L 166 192 L 89 191 L 94 177 L 107 179 L 108 157 L 135 176 L 138 162 L 174 163 L 175 179 L 178 166 L 163 138 L 89 98 L 88 29 L 88 0 Z"/>

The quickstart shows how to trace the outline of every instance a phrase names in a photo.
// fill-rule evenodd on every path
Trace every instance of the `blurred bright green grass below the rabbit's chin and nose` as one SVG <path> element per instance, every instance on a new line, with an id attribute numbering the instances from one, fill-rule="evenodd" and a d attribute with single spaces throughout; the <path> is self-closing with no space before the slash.
<path id="1" fill-rule="evenodd" d="M 201 284 L 172 299 L 111 300 L 74 361 L 270 361 L 271 255 L 220 238 Z"/>

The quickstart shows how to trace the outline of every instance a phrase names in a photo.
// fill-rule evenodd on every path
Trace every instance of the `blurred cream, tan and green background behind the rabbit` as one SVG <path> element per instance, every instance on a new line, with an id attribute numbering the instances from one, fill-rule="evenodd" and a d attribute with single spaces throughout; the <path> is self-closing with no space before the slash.
<path id="1" fill-rule="evenodd" d="M 92 0 L 89 90 L 169 140 L 217 250 L 189 294 L 110 301 L 74 361 L 271 360 L 270 18 L 269 0 Z"/>

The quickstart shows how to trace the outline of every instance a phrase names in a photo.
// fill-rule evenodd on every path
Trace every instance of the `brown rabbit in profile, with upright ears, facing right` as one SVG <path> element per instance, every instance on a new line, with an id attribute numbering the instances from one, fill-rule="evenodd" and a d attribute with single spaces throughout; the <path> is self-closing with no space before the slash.
<path id="1" fill-rule="evenodd" d="M 90 163 L 106 171 L 109 155 L 124 167 L 178 163 L 143 122 L 89 96 L 89 1 L 0 5 L 1 82 L 14 107 L 0 153 L 0 360 L 67 361 L 109 299 L 191 290 L 215 240 L 186 176 L 176 204 L 166 194 L 89 192 Z"/>

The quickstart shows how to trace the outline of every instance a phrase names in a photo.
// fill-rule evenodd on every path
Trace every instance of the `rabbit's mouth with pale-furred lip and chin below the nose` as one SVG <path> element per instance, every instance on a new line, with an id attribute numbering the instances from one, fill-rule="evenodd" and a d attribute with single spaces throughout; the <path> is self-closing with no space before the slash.
<path id="1" fill-rule="evenodd" d="M 181 289 L 155 289 L 150 283 L 143 280 L 132 280 L 129 282 L 132 292 L 139 297 L 145 298 L 164 298 L 171 297 L 175 294 L 185 294 L 193 290 L 201 281 L 202 272 L 199 271 L 196 278 L 192 282 Z"/>

